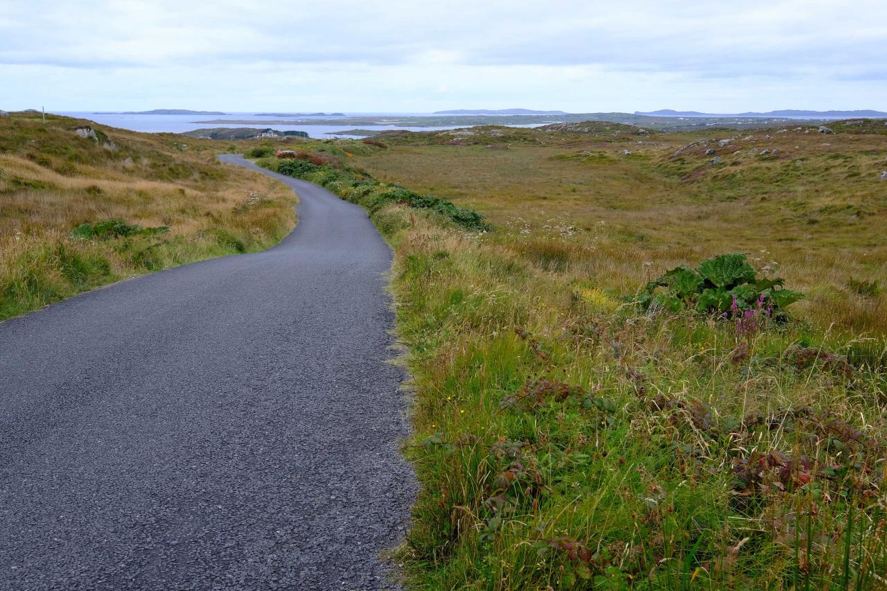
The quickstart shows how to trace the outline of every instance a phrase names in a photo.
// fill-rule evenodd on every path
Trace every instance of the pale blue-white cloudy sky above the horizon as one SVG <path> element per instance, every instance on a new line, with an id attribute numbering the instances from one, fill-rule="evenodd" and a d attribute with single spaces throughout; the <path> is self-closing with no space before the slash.
<path id="1" fill-rule="evenodd" d="M 887 110 L 884 0 L 0 0 L 0 109 Z"/>

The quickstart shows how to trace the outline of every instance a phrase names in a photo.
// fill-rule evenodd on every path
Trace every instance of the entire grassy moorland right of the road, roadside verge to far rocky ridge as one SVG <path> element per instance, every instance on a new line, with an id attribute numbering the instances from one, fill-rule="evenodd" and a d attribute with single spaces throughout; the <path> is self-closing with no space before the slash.
<path id="1" fill-rule="evenodd" d="M 302 145 L 325 153 L 285 171 L 365 205 L 396 250 L 411 587 L 887 588 L 887 136 L 835 128 Z M 632 303 L 729 252 L 805 299 Z"/>

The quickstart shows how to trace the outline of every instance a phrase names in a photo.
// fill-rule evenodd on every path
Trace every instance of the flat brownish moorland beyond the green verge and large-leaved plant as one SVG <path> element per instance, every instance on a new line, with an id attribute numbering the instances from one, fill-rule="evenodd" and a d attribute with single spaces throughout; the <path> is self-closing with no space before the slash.
<path id="1" fill-rule="evenodd" d="M 593 265 L 578 274 L 593 272 L 619 293 L 676 264 L 740 250 L 760 266 L 775 261 L 771 268 L 808 294 L 798 316 L 887 334 L 884 293 L 860 296 L 851 287 L 887 285 L 887 181 L 879 181 L 887 133 L 808 129 L 573 134 L 549 140 L 555 145 L 508 142 L 508 150 L 486 147 L 502 146 L 486 137 L 468 146 L 396 146 L 356 161 L 377 177 L 474 207 L 509 239 L 519 234 L 520 248 L 607 251 L 569 266 Z M 705 138 L 715 139 L 675 156 Z M 718 138 L 736 139 L 718 146 Z M 632 154 L 622 155 L 626 149 Z M 712 164 L 716 158 L 722 162 Z M 575 226 L 569 240 L 558 230 L 564 225 Z"/>

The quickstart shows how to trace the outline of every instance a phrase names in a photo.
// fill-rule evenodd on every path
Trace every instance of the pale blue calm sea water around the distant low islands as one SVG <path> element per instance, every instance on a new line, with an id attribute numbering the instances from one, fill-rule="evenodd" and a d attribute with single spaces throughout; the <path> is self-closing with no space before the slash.
<path id="1" fill-rule="evenodd" d="M 269 115 L 257 115 L 254 113 L 229 113 L 225 115 L 166 115 L 166 114 L 98 114 L 90 112 L 73 112 L 59 111 L 58 114 L 67 115 L 69 117 L 77 117 L 79 119 L 89 119 L 103 125 L 119 127 L 124 130 L 145 131 L 149 133 L 160 133 L 169 131 L 173 133 L 182 133 L 183 131 L 199 130 L 209 127 L 252 127 L 264 130 L 272 128 L 279 131 L 305 131 L 311 138 L 329 138 L 336 137 L 337 131 L 351 130 L 359 127 L 364 130 L 412 130 L 412 131 L 434 131 L 434 130 L 454 130 L 462 126 L 451 125 L 447 127 L 400 127 L 397 125 L 352 125 L 345 123 L 343 125 L 268 125 L 262 123 L 198 123 L 200 121 L 211 121 L 215 119 L 236 119 L 240 121 L 271 121 L 283 120 L 285 117 L 275 117 Z M 348 117 L 360 116 L 416 116 L 429 115 L 428 113 L 349 113 Z M 328 115 L 318 115 L 316 117 L 299 116 L 299 119 L 334 119 Z M 515 125 L 514 127 L 535 127 L 534 125 Z"/>

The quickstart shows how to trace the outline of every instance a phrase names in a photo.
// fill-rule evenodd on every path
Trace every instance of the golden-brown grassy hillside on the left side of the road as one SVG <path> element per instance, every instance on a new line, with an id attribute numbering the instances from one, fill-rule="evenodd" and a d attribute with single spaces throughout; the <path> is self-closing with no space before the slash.
<path id="1" fill-rule="evenodd" d="M 216 162 L 226 146 L 54 115 L 0 118 L 0 320 L 282 239 L 293 193 Z"/>

